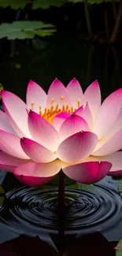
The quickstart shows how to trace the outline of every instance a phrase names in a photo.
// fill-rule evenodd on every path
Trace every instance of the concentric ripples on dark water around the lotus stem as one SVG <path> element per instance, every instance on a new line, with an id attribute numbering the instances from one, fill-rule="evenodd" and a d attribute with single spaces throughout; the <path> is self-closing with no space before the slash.
<path id="1" fill-rule="evenodd" d="M 104 230 L 120 220 L 121 210 L 122 200 L 112 187 L 97 184 L 94 191 L 66 189 L 65 233 Z M 57 233 L 57 189 L 20 187 L 9 191 L 0 215 L 2 223 L 7 225 Z"/>

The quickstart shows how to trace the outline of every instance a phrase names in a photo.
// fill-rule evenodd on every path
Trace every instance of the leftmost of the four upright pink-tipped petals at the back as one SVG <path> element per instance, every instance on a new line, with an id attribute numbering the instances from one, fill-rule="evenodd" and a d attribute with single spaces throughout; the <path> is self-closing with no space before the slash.
<path id="1" fill-rule="evenodd" d="M 42 111 L 46 108 L 47 95 L 38 83 L 30 80 L 27 88 L 26 102 L 28 109 L 31 109 L 31 102 L 34 102 L 33 111 L 39 113 L 39 106 Z"/>

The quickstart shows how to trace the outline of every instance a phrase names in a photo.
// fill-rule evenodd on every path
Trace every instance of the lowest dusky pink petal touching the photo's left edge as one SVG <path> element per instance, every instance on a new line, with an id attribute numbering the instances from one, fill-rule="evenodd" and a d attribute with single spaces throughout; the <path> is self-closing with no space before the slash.
<path id="1" fill-rule="evenodd" d="M 20 158 L 14 158 L 9 154 L 0 152 L 0 170 L 6 170 L 8 172 L 13 172 L 17 166 L 28 163 L 29 160 L 24 160 Z"/>

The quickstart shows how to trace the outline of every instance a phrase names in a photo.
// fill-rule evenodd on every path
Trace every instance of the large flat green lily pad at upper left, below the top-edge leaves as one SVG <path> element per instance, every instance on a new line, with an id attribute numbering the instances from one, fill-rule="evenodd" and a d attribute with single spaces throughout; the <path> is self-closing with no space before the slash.
<path id="1" fill-rule="evenodd" d="M 42 21 L 13 21 L 0 25 L 0 39 L 32 39 L 35 35 L 52 35 L 55 31 L 53 24 L 44 24 Z"/>

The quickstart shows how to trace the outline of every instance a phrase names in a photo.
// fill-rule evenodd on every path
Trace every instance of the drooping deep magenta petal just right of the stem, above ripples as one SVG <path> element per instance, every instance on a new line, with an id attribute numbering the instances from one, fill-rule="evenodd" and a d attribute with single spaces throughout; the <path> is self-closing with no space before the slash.
<path id="1" fill-rule="evenodd" d="M 63 169 L 63 172 L 72 180 L 81 182 L 83 184 L 93 184 L 102 180 L 109 170 L 112 164 L 108 161 L 102 162 L 84 162 L 77 165 L 70 165 Z"/>

